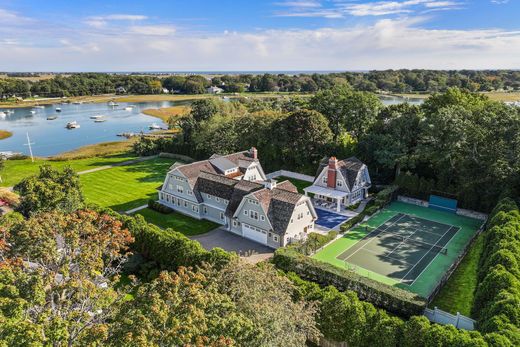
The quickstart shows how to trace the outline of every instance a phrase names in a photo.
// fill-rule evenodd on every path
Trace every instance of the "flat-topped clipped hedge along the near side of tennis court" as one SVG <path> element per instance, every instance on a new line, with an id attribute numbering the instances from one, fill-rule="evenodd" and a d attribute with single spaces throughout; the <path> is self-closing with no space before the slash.
<path id="1" fill-rule="evenodd" d="M 273 262 L 283 271 L 295 272 L 304 279 L 320 285 L 333 285 L 339 290 L 353 290 L 362 300 L 402 317 L 422 314 L 426 307 L 426 300 L 411 292 L 306 257 L 294 249 L 277 249 Z"/>

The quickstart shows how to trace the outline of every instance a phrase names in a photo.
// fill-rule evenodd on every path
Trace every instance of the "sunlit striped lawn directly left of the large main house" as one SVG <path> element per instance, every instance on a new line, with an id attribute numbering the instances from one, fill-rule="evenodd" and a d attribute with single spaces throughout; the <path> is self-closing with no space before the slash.
<path id="1" fill-rule="evenodd" d="M 157 198 L 157 188 L 173 163 L 157 158 L 81 175 L 83 194 L 87 202 L 115 211 L 142 206 Z"/>

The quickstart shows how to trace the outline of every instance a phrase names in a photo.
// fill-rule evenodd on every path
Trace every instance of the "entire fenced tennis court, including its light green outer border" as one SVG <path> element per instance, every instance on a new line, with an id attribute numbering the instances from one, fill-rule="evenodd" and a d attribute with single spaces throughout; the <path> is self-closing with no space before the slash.
<path id="1" fill-rule="evenodd" d="M 393 202 L 313 258 L 429 297 L 481 223 Z"/>

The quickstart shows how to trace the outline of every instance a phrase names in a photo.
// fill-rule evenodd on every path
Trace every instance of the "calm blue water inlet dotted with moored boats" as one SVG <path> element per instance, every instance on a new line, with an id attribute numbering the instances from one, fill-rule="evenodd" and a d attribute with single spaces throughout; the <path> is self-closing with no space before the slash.
<path id="1" fill-rule="evenodd" d="M 160 108 L 178 105 L 179 102 L 141 102 L 119 103 L 118 106 L 109 106 L 106 103 L 84 104 L 54 104 L 44 108 L 3 108 L 0 112 L 12 110 L 4 116 L 0 116 L 0 129 L 8 130 L 13 136 L 0 140 L 0 151 L 29 153 L 26 133 L 36 156 L 52 156 L 65 151 L 70 151 L 81 146 L 120 141 L 124 138 L 117 134 L 123 132 L 149 132 L 149 126 L 153 123 L 166 127 L 159 118 L 150 117 L 142 113 L 148 108 Z M 125 108 L 132 107 L 131 110 Z M 56 109 L 61 108 L 61 112 Z M 31 112 L 32 111 L 32 112 Z M 0 113 L 1 115 L 1 113 Z M 92 116 L 104 116 L 105 122 L 96 123 Z M 48 117 L 57 117 L 47 120 Z M 69 122 L 76 121 L 80 128 L 67 129 Z"/>

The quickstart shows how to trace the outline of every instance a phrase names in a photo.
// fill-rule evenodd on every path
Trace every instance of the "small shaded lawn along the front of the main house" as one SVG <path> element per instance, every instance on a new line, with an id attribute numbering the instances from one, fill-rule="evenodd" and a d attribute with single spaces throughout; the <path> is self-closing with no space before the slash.
<path id="1" fill-rule="evenodd" d="M 136 212 L 136 214 L 143 216 L 148 223 L 155 224 L 163 229 L 171 228 L 186 236 L 204 234 L 218 227 L 216 223 L 207 220 L 198 220 L 176 212 L 162 214 L 145 208 L 144 210 Z"/>

